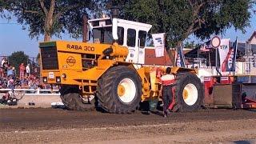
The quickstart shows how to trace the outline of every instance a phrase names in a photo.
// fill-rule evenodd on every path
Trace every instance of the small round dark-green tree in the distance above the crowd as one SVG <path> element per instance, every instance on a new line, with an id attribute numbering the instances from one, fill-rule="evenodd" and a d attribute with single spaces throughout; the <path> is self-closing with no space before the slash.
<path id="1" fill-rule="evenodd" d="M 15 67 L 15 70 L 19 70 L 18 67 L 21 63 L 24 63 L 25 65 L 28 62 L 29 56 L 24 54 L 24 51 L 16 51 L 8 57 L 8 62 L 11 66 Z"/>

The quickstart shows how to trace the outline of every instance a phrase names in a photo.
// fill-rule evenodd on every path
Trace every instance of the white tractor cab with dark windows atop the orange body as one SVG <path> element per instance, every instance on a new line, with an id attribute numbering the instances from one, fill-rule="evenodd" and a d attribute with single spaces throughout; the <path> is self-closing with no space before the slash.
<path id="1" fill-rule="evenodd" d="M 112 44 L 115 39 L 114 33 L 117 33 L 116 42 L 120 46 L 128 47 L 129 54 L 126 62 L 144 64 L 146 37 L 152 26 L 141 22 L 116 19 L 117 21 L 112 21 L 111 18 L 89 20 L 90 42 Z M 113 26 L 113 22 L 117 24 Z"/>

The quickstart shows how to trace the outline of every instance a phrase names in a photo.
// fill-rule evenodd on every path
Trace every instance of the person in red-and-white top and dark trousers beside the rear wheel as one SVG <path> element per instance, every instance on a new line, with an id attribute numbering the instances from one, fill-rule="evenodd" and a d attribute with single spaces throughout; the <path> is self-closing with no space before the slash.
<path id="1" fill-rule="evenodd" d="M 172 85 L 174 83 L 174 74 L 170 74 L 171 68 L 166 68 L 166 74 L 162 75 L 160 81 L 162 83 L 162 102 L 163 102 L 163 116 L 167 117 L 169 114 L 168 107 L 172 101 Z"/>

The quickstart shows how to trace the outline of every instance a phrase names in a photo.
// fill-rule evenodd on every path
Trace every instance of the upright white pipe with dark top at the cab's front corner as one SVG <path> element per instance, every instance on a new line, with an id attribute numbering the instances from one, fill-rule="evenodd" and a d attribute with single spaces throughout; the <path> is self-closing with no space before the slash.
<path id="1" fill-rule="evenodd" d="M 112 13 L 112 36 L 113 43 L 118 42 L 118 16 L 119 16 L 119 8 L 118 6 L 113 6 L 111 8 Z"/>

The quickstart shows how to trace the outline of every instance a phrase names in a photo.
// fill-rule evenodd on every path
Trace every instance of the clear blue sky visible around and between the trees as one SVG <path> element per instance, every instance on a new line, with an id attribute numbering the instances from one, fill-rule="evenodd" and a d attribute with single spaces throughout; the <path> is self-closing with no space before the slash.
<path id="1" fill-rule="evenodd" d="M 254 6 L 256 9 L 256 6 Z M 231 27 L 226 30 L 226 33 L 221 38 L 230 38 L 230 41 L 234 42 L 238 36 L 238 42 L 246 42 L 250 38 L 250 35 L 256 30 L 256 14 L 250 18 L 250 27 L 246 27 L 246 33 L 242 34 L 241 30 L 234 30 Z M 60 38 L 52 38 L 52 40 L 58 40 Z M 62 34 L 62 40 L 67 41 L 82 41 L 80 39 L 70 38 L 69 34 Z M 43 41 L 43 36 L 40 36 L 38 40 L 36 38 L 31 39 L 29 37 L 28 30 L 22 30 L 22 26 L 18 25 L 13 18 L 9 22 L 6 19 L 0 18 L 0 56 L 10 55 L 14 51 L 24 51 L 25 54 L 30 57 L 36 57 L 38 54 L 38 42 Z M 195 43 L 202 43 L 201 40 L 190 36 L 188 41 L 194 41 Z"/>

